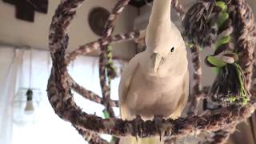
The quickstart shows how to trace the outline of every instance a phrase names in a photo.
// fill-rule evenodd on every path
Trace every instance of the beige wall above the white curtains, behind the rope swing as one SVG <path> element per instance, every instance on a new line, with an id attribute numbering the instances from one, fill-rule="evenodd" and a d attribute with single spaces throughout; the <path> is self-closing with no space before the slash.
<path id="1" fill-rule="evenodd" d="M 36 12 L 34 22 L 25 22 L 15 18 L 13 5 L 0 1 L 0 43 L 10 43 L 17 46 L 31 46 L 47 50 L 48 30 L 54 10 L 58 6 L 59 0 L 49 0 L 48 14 Z M 98 38 L 91 30 L 87 22 L 89 11 L 94 6 L 103 6 L 111 10 L 116 0 L 87 0 L 78 9 L 78 13 L 72 21 L 70 30 L 69 50 L 74 50 L 78 46 L 94 41 Z M 137 16 L 137 9 L 127 6 L 116 22 L 115 34 L 126 33 L 132 30 L 134 18 Z M 130 58 L 134 55 L 134 43 L 125 42 L 114 45 L 114 55 L 122 58 Z"/>

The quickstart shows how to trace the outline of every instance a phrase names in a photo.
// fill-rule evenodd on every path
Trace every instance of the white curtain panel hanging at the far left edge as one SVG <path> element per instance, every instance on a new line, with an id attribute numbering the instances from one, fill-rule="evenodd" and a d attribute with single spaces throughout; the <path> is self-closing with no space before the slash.
<path id="1" fill-rule="evenodd" d="M 10 50 L 3 47 L 1 58 L 1 88 L 0 90 L 0 143 L 11 143 L 12 140 L 12 100 L 18 88 L 18 74 L 22 64 L 23 50 Z M 14 53 L 14 55 L 13 55 Z"/>

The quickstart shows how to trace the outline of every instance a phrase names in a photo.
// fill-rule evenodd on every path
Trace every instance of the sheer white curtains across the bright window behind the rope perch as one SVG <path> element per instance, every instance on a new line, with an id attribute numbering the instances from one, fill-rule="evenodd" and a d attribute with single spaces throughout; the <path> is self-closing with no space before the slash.
<path id="1" fill-rule="evenodd" d="M 42 50 L 14 50 L 10 48 L 6 50 L 10 51 L 10 55 L 13 54 L 14 56 L 10 57 L 12 60 L 11 62 L 6 62 L 6 66 L 1 65 L 1 72 L 2 67 L 6 67 L 6 72 L 2 72 L 0 77 L 1 84 L 4 83 L 4 85 L 1 85 L 1 90 L 5 88 L 6 93 L 1 93 L 0 97 L 0 143 L 85 143 L 84 139 L 69 122 L 64 122 L 54 114 L 54 110 L 48 102 L 46 85 L 51 67 L 49 52 Z M 5 55 L 6 51 L 1 51 L 0 54 Z M 115 64 L 119 68 L 122 66 L 121 62 L 115 62 Z M 100 96 L 102 95 L 98 78 L 98 58 L 80 57 L 70 64 L 68 70 L 78 84 L 85 86 L 86 89 L 92 90 Z M 118 82 L 119 78 L 115 78 L 111 83 L 111 98 L 113 99 L 118 99 Z M 20 110 L 17 110 L 13 108 L 14 99 L 24 99 L 24 97 L 26 99 L 26 94 L 21 93 L 21 91 L 28 88 L 37 91 L 34 94 L 38 94 L 37 96 L 40 97 L 39 105 L 35 107 L 33 121 L 18 123 L 15 122 L 17 116 L 13 117 L 13 115 L 23 111 L 26 102 L 23 102 L 20 105 Z M 74 100 L 87 113 L 97 114 L 98 116 L 103 115 L 103 106 L 90 102 L 75 93 Z M 114 109 L 114 111 L 118 115 L 118 109 Z M 25 114 L 24 117 L 29 116 Z M 102 137 L 110 140 L 110 136 L 103 135 Z"/>

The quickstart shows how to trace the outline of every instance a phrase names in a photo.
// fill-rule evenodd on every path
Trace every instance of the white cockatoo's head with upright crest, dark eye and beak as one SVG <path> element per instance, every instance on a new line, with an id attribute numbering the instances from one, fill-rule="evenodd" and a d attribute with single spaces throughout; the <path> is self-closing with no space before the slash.
<path id="1" fill-rule="evenodd" d="M 186 57 L 182 35 L 170 20 L 170 0 L 154 1 L 145 41 L 154 73 L 160 65 L 177 66 Z"/>

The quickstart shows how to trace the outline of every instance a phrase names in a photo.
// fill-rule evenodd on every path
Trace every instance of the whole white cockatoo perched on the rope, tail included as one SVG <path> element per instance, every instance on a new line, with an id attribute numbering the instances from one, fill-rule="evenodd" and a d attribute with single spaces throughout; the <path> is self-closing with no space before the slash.
<path id="1" fill-rule="evenodd" d="M 146 50 L 132 58 L 122 72 L 119 106 L 122 119 L 154 116 L 178 118 L 189 90 L 186 45 L 170 20 L 171 0 L 154 0 L 146 27 Z M 161 143 L 160 138 L 123 137 L 121 144 Z"/>

